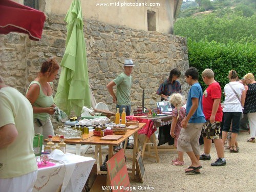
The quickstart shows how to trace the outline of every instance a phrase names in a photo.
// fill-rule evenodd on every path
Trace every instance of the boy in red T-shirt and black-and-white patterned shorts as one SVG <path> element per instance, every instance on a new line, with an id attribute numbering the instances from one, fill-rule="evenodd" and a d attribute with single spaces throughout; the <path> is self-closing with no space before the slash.
<path id="1" fill-rule="evenodd" d="M 210 160 L 211 140 L 214 140 L 218 159 L 211 166 L 224 166 L 226 160 L 224 158 L 224 147 L 221 139 L 221 87 L 214 79 L 214 72 L 205 69 L 202 72 L 204 83 L 208 86 L 203 93 L 203 113 L 206 123 L 203 126 L 202 136 L 204 137 L 204 153 L 200 155 L 200 160 Z"/>

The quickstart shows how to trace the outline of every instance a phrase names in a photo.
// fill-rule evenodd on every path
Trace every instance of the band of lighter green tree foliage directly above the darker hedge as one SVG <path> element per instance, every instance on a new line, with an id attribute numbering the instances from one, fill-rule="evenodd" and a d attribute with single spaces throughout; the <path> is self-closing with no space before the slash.
<path id="1" fill-rule="evenodd" d="M 256 37 L 256 15 L 244 17 L 240 12 L 219 17 L 211 13 L 180 18 L 175 23 L 174 32 L 176 35 L 196 41 L 201 39 L 217 42 L 228 42 L 230 39 L 248 41 Z"/>

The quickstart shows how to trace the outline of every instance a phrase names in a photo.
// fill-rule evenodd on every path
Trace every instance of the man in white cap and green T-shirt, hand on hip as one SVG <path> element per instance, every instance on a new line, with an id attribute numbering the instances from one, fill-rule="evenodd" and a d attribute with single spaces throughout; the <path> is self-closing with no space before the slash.
<path id="1" fill-rule="evenodd" d="M 113 97 L 113 103 L 116 103 L 116 108 L 119 108 L 119 113 L 122 113 L 123 108 L 125 108 L 126 115 L 131 114 L 131 88 L 132 88 L 132 71 L 133 71 L 133 60 L 125 59 L 124 61 L 124 72 L 119 74 L 114 80 L 112 80 L 109 84 L 107 84 L 106 88 L 110 92 Z M 116 87 L 116 95 L 114 93 L 113 87 Z M 131 144 L 129 144 L 129 140 L 127 142 L 126 148 L 133 148 Z M 115 151 L 118 151 L 115 150 Z"/>

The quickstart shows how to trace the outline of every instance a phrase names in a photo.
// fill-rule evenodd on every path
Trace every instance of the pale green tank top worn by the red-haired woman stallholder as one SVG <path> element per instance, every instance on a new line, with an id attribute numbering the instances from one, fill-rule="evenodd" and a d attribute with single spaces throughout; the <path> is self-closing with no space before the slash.
<path id="1" fill-rule="evenodd" d="M 44 92 L 42 91 L 41 89 L 41 84 L 38 82 L 38 81 L 32 81 L 30 84 L 29 84 L 29 87 L 31 86 L 31 84 L 38 84 L 39 87 L 40 87 L 40 92 L 39 92 L 39 95 L 38 95 L 38 98 L 36 99 L 36 101 L 32 104 L 33 106 L 37 106 L 39 108 L 48 108 L 49 106 L 52 106 L 54 104 L 53 102 L 53 94 L 50 95 L 50 96 L 47 96 L 44 94 Z M 50 82 L 50 86 L 53 90 L 53 82 Z M 29 90 L 29 87 L 27 89 L 27 92 Z M 34 119 L 40 119 L 40 120 L 47 120 L 49 118 L 49 113 L 34 113 Z"/>

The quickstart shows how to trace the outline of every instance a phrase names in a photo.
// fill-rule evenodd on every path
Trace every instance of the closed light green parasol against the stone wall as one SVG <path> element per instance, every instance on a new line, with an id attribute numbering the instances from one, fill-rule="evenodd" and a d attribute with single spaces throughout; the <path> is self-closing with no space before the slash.
<path id="1" fill-rule="evenodd" d="M 54 102 L 68 115 L 73 110 L 79 116 L 83 106 L 90 108 L 91 105 L 80 0 L 73 0 L 64 20 L 67 22 L 66 51 L 60 63 L 62 70 Z"/>

